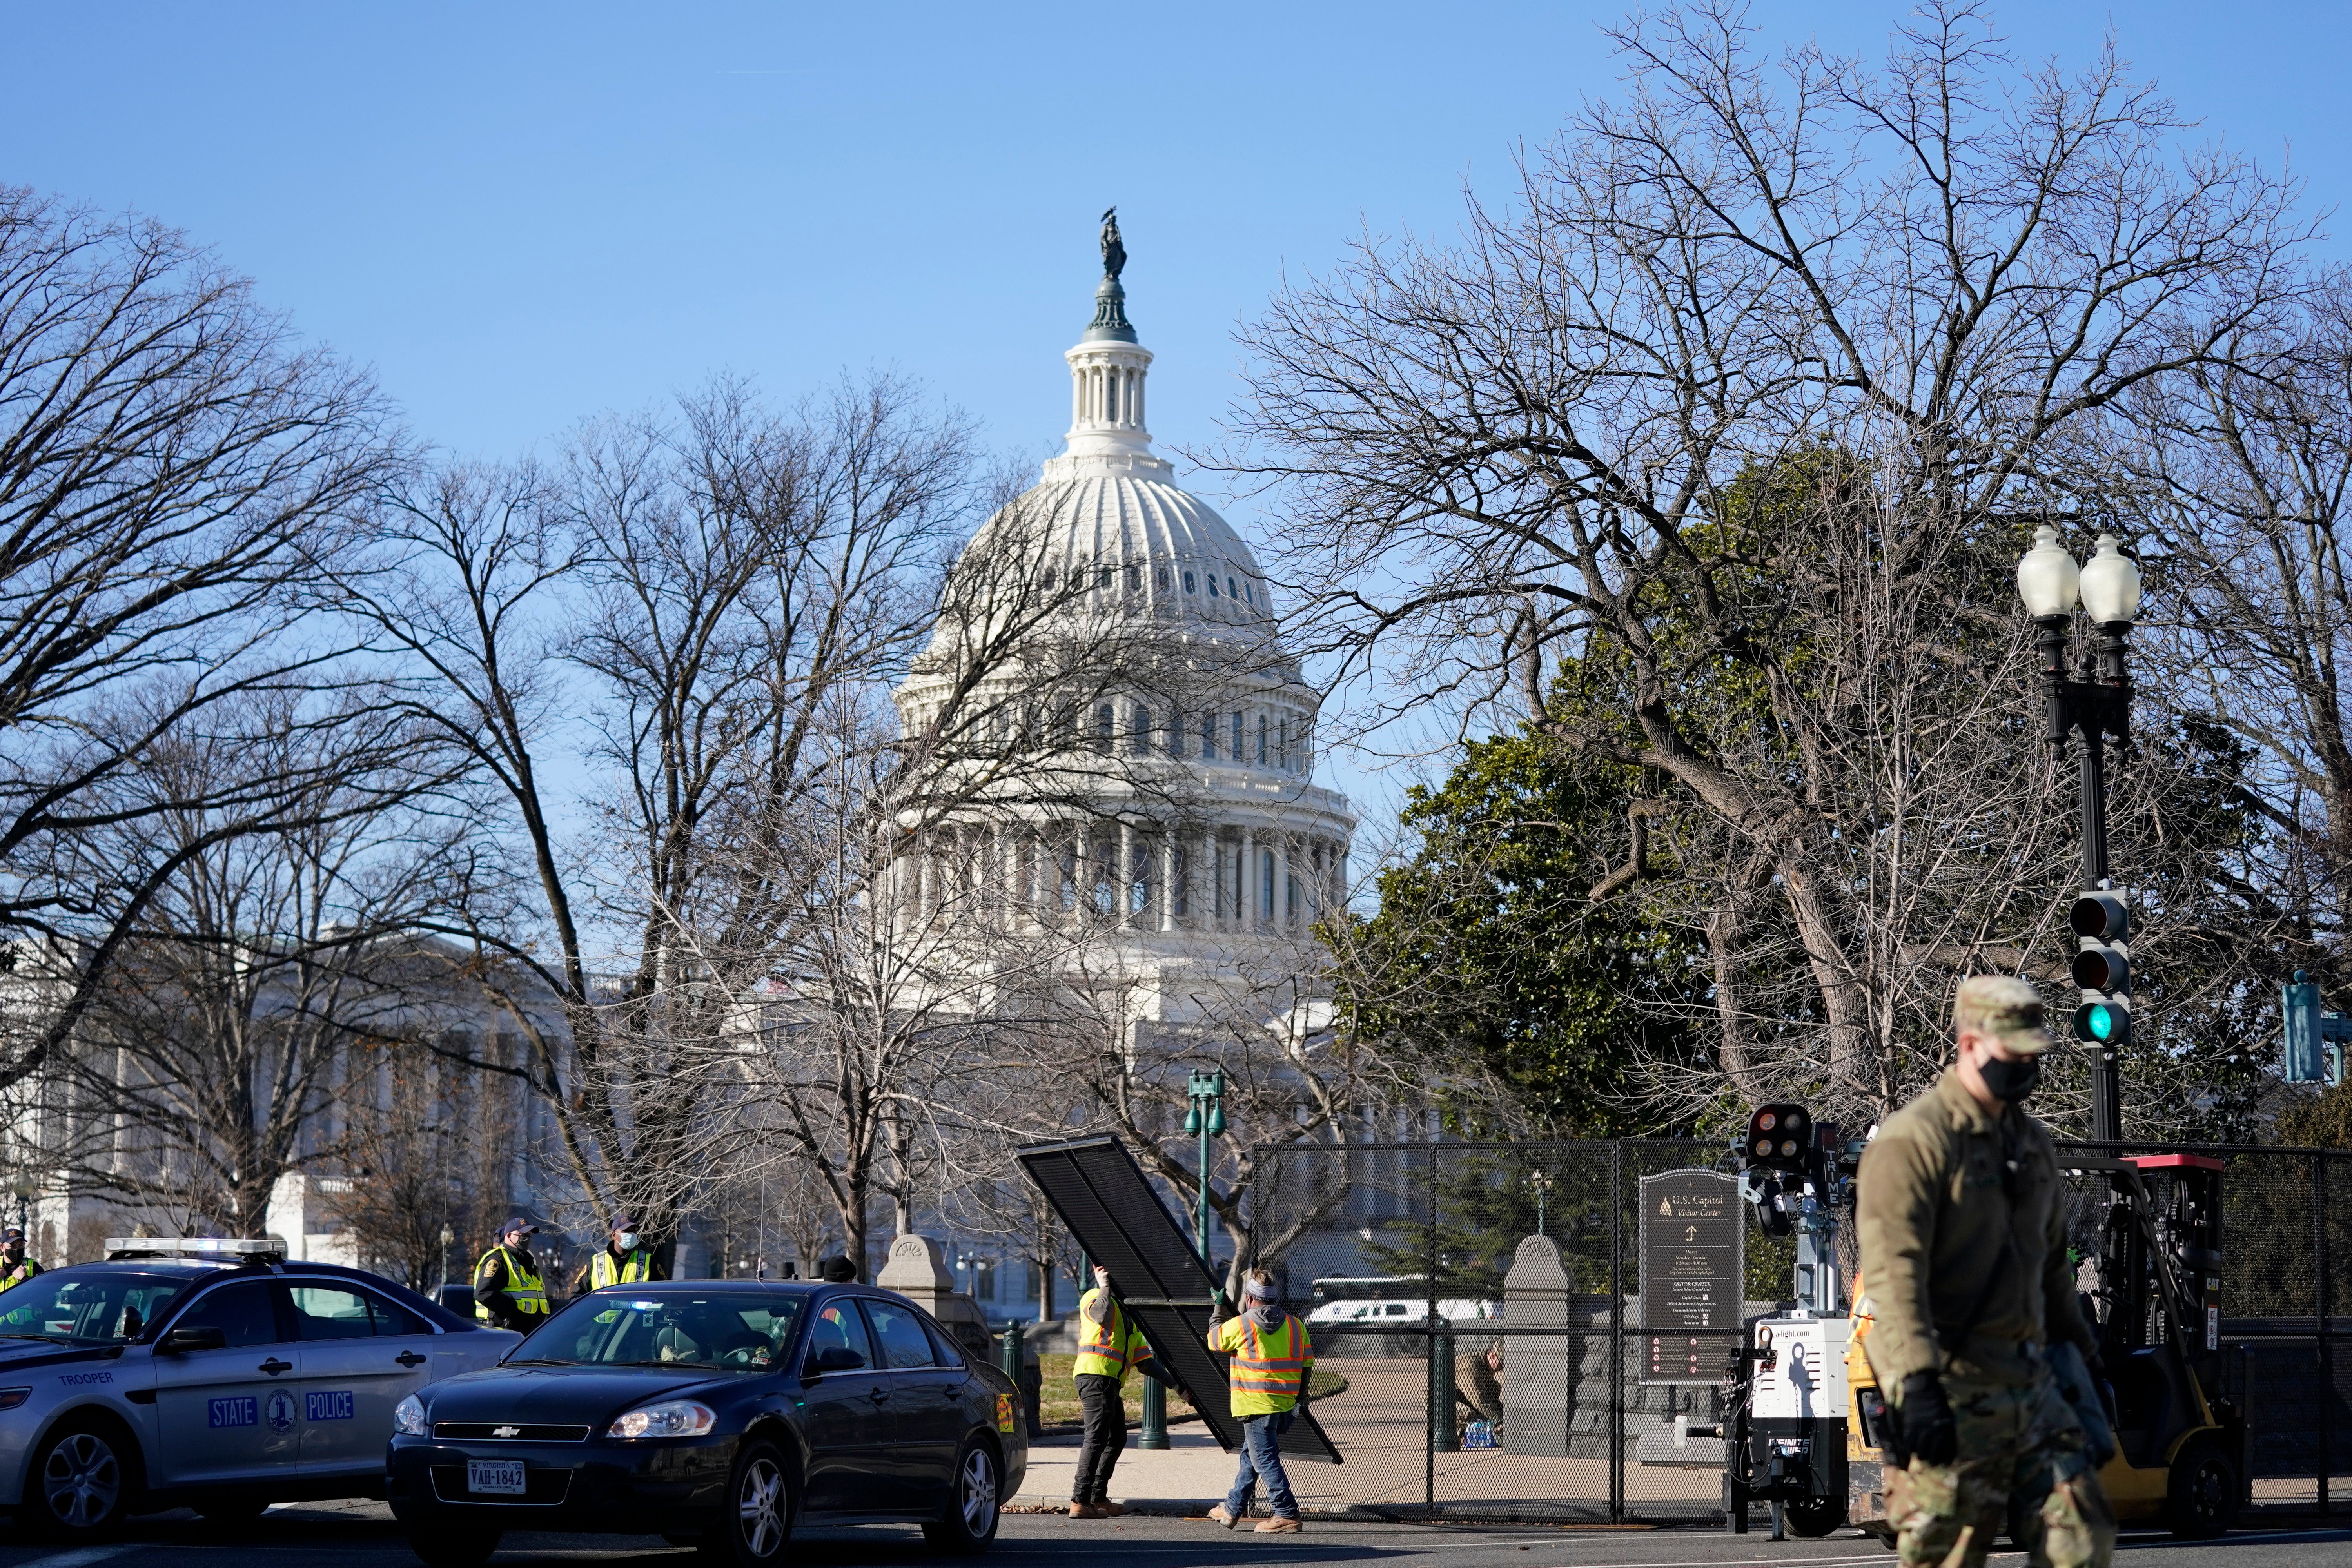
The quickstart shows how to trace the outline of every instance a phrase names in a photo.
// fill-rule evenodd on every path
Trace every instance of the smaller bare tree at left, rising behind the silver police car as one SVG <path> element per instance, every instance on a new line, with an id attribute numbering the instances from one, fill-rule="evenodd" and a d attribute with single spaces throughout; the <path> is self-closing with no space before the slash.
<path id="1" fill-rule="evenodd" d="M 282 1175 L 346 1159 L 367 1041 L 407 1034 L 433 1006 L 447 964 L 419 952 L 414 926 L 463 849 L 435 780 L 414 771 L 433 748 L 397 712 L 245 712 L 233 733 L 148 748 L 115 788 L 202 802 L 249 778 L 315 783 L 270 809 L 268 832 L 221 835 L 216 809 L 179 806 L 125 811 L 89 844 L 172 875 L 49 1074 L 66 1086 L 56 1135 L 78 1185 L 259 1237 Z"/>

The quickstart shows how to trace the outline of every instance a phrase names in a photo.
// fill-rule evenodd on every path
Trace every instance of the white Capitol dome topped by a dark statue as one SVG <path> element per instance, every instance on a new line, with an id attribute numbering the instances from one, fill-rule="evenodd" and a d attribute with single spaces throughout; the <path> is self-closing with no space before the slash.
<path id="1" fill-rule="evenodd" d="M 1040 635 L 974 661 L 990 630 L 976 623 L 1000 611 L 950 588 L 891 693 L 908 738 L 950 703 L 995 705 L 1011 726 L 1037 722 L 1035 691 L 1075 693 L 1049 719 L 1058 783 L 931 827 L 901 898 L 941 910 L 978 886 L 993 898 L 957 905 L 960 919 L 1084 924 L 1136 1023 L 1181 1025 L 1204 990 L 1284 969 L 1343 905 L 1355 813 L 1315 783 L 1319 696 L 1282 644 L 1256 555 L 1152 456 L 1152 353 L 1127 320 L 1124 261 L 1105 214 L 1094 320 L 1063 353 L 1065 449 L 948 574 L 1018 583 L 1044 607 Z"/>

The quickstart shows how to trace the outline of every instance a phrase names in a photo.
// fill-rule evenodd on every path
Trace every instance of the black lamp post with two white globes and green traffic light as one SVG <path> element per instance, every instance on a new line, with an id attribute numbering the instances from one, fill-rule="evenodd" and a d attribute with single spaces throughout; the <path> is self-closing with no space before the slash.
<path id="1" fill-rule="evenodd" d="M 2067 733 L 2082 731 L 2082 882 L 2084 893 L 2067 910 L 2079 938 L 2074 985 L 2074 1039 L 2091 1046 L 2091 1138 L 2124 1138 L 2122 1053 L 2131 1044 L 2131 907 L 2107 877 L 2107 752 L 2112 736 L 2131 741 L 2131 675 L 2124 670 L 2124 637 L 2140 614 L 2140 567 L 2124 555 L 2114 534 L 2100 534 L 2096 555 L 2082 567 L 2058 543 L 2058 529 L 2034 529 L 2034 548 L 2018 562 L 2018 597 L 2042 628 L 2042 703 L 2049 743 L 2065 750 Z M 2093 661 L 2070 668 L 2067 644 L 2074 607 L 2091 618 Z"/>

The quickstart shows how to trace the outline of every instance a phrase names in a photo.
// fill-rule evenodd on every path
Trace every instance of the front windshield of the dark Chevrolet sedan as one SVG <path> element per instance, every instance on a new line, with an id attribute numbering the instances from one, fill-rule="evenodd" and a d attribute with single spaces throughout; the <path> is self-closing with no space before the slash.
<path id="1" fill-rule="evenodd" d="M 764 1373 L 783 1361 L 800 1298 L 771 1291 L 583 1295 L 532 1331 L 508 1366 L 708 1366 Z"/>

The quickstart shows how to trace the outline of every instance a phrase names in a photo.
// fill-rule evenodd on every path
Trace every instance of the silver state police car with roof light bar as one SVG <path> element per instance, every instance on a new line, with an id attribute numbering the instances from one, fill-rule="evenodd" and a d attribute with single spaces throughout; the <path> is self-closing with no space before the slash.
<path id="1" fill-rule="evenodd" d="M 0 1502 L 38 1535 L 383 1495 L 393 1408 L 520 1342 L 278 1241 L 106 1248 L 0 1293 Z"/>

